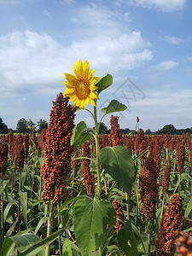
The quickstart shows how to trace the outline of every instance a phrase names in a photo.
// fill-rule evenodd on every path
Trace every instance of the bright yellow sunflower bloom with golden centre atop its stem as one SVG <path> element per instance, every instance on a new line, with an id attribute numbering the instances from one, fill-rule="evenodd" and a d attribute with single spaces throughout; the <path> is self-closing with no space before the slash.
<path id="1" fill-rule="evenodd" d="M 90 70 L 90 64 L 88 61 L 77 61 L 76 68 L 73 65 L 74 76 L 70 73 L 64 73 L 67 79 L 65 96 L 69 96 L 69 102 L 73 102 L 73 106 L 80 106 L 85 108 L 89 102 L 96 107 L 95 99 L 99 99 L 94 85 L 98 77 L 94 77 L 95 70 Z"/>

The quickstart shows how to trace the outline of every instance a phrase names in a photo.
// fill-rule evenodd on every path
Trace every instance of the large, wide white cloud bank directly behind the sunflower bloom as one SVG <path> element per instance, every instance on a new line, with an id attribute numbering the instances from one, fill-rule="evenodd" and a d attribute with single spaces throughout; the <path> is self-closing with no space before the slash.
<path id="1" fill-rule="evenodd" d="M 90 60 L 96 75 L 131 70 L 153 58 L 149 46 L 140 32 L 85 38 L 67 46 L 47 34 L 14 32 L 0 37 L 0 75 L 7 79 L 6 88 L 0 90 L 23 88 L 24 84 L 26 88 L 34 84 L 31 90 L 39 90 L 42 84 L 49 91 L 50 84 L 62 82 L 63 72 L 72 72 L 70 67 L 80 58 Z"/>

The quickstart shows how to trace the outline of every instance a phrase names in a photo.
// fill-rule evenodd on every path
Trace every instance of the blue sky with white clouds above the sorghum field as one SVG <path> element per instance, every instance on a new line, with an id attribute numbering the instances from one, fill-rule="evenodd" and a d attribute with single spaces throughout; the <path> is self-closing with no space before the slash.
<path id="1" fill-rule="evenodd" d="M 80 59 L 113 76 L 97 102 L 128 108 L 121 128 L 192 127 L 191 0 L 0 0 L 0 117 L 49 122 L 64 73 Z M 93 106 L 89 105 L 90 111 Z M 80 110 L 75 123 L 94 123 Z M 110 114 L 103 122 L 110 128 Z"/>

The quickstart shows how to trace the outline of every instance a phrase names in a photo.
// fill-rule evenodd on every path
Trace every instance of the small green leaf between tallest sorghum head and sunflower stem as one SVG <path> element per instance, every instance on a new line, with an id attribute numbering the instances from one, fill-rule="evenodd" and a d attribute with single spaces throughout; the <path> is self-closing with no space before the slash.
<path id="1" fill-rule="evenodd" d="M 89 131 L 86 131 L 87 129 L 87 125 L 84 121 L 79 122 L 79 124 L 73 128 L 71 145 L 74 145 L 76 149 L 80 148 L 83 143 L 89 141 L 90 138 L 93 137 Z"/>

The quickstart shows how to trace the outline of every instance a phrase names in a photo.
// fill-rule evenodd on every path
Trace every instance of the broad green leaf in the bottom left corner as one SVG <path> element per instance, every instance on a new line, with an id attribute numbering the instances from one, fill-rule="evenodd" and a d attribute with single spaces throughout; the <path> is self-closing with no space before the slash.
<path id="1" fill-rule="evenodd" d="M 39 241 L 40 240 L 38 236 L 35 236 L 34 234 L 25 234 L 23 236 L 12 236 L 12 237 L 6 238 L 5 241 L 3 242 L 3 247 L 2 247 L 2 251 L 3 252 L 5 251 L 5 253 L 1 254 L 1 256 L 11 255 L 9 254 L 11 247 L 13 248 L 14 246 L 16 246 L 19 253 L 21 253 L 24 250 L 26 250 L 26 248 L 32 247 L 34 244 L 36 244 Z M 32 256 L 34 255 L 34 253 L 28 253 L 26 255 Z M 44 251 L 41 253 L 38 252 L 38 256 L 44 256 Z"/>

